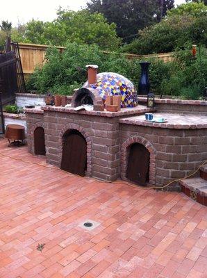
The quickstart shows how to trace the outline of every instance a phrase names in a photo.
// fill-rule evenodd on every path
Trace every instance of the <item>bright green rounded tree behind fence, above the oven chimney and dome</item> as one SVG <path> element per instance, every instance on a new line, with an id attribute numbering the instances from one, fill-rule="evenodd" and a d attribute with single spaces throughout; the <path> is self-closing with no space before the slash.
<path id="1" fill-rule="evenodd" d="M 105 50 L 117 49 L 119 46 L 120 39 L 117 38 L 115 23 L 108 24 L 104 15 L 100 13 L 59 9 L 58 18 L 54 24 L 58 28 L 63 26 L 70 42 L 97 44 Z"/>

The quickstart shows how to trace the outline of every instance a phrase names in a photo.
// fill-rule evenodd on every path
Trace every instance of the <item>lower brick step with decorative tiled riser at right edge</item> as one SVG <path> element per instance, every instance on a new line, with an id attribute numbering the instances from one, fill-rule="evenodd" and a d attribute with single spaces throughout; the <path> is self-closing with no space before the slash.
<path id="1" fill-rule="evenodd" d="M 201 177 L 180 181 L 181 191 L 194 201 L 207 206 L 207 181 Z"/>

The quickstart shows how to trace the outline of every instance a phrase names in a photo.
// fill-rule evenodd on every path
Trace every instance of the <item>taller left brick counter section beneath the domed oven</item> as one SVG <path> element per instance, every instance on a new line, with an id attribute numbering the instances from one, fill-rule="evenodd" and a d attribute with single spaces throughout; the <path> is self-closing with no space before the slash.
<path id="1" fill-rule="evenodd" d="M 106 181 L 119 177 L 119 119 L 149 112 L 146 106 L 123 108 L 117 113 L 108 111 L 74 111 L 74 108 L 44 106 L 42 110 L 27 109 L 28 145 L 34 154 L 33 132 L 44 127 L 47 162 L 60 167 L 63 136 L 69 129 L 76 129 L 87 142 L 88 176 Z"/>

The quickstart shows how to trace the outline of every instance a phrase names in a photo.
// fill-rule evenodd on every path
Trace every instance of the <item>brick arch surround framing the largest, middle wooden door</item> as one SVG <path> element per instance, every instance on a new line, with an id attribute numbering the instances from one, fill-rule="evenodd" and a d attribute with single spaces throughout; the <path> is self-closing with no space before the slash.
<path id="1" fill-rule="evenodd" d="M 63 136 L 64 134 L 69 131 L 70 129 L 75 129 L 79 131 L 83 137 L 86 140 L 87 143 L 87 171 L 86 175 L 91 176 L 92 175 L 92 140 L 90 138 L 90 135 L 88 132 L 86 132 L 82 126 L 79 126 L 78 124 L 65 124 L 63 129 L 60 131 L 58 142 L 61 143 L 61 159 L 62 159 L 62 153 L 63 153 Z"/>

